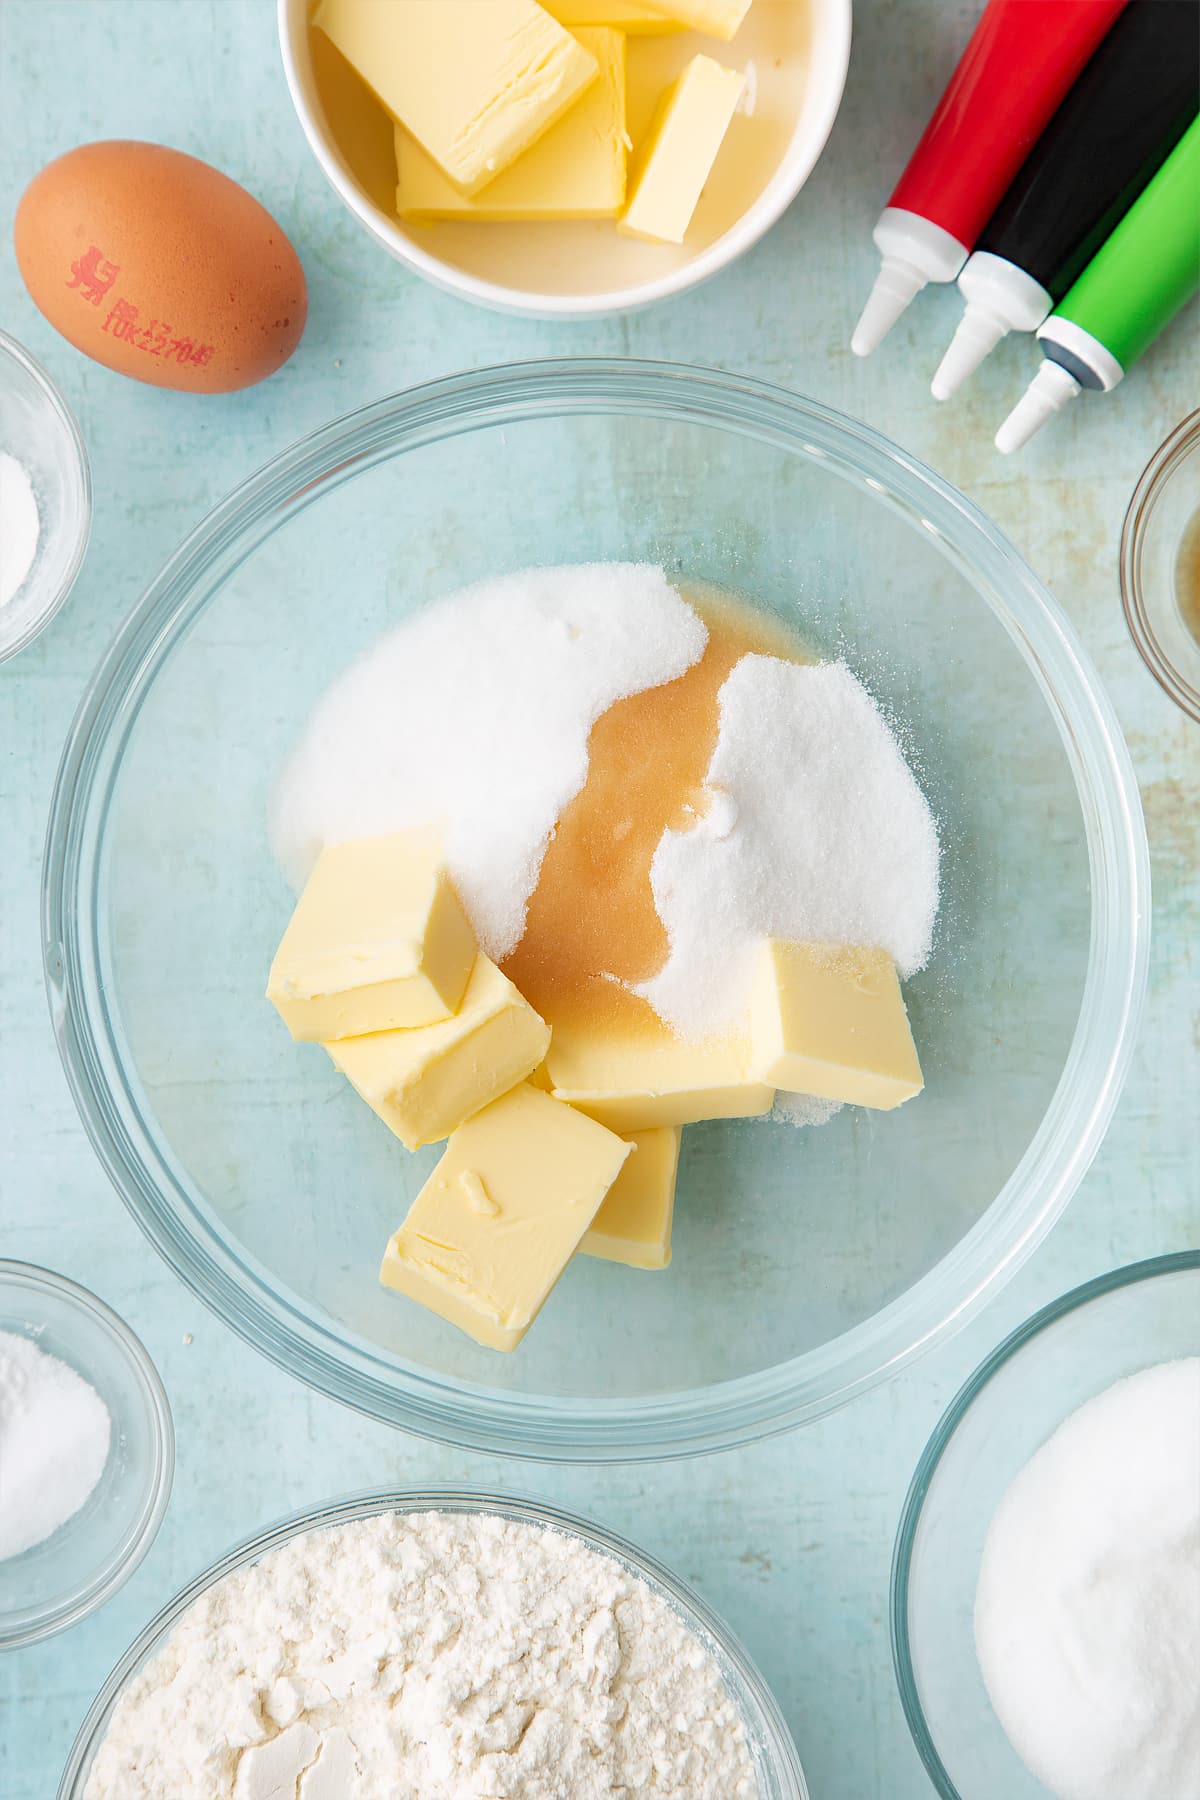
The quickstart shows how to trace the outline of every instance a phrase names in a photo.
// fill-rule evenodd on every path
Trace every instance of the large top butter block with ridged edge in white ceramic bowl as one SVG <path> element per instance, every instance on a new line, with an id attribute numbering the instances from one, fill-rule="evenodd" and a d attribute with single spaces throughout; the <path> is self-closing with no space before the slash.
<path id="1" fill-rule="evenodd" d="M 534 0 L 320 0 L 313 25 L 464 194 L 596 79 L 596 58 Z"/>

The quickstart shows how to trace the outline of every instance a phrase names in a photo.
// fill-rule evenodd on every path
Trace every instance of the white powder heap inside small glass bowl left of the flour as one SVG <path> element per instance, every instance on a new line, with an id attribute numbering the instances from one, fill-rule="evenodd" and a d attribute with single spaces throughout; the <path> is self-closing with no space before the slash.
<path id="1" fill-rule="evenodd" d="M 88 1501 L 112 1418 L 95 1388 L 20 1332 L 0 1332 L 0 1561 L 32 1550 Z"/>

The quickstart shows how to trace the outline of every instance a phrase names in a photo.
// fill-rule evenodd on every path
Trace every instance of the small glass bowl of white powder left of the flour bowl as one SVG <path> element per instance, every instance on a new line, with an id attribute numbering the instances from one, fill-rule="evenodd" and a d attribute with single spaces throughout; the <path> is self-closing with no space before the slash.
<path id="1" fill-rule="evenodd" d="M 167 1397 L 133 1332 L 65 1276 L 5 1260 L 0 1454 L 4 1651 L 115 1593 L 155 1541 L 175 1472 Z"/>

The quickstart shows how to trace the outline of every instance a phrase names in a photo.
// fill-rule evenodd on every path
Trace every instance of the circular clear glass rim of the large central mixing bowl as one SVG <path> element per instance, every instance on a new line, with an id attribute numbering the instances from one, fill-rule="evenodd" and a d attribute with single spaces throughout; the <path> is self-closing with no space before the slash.
<path id="1" fill-rule="evenodd" d="M 157 670 L 223 580 L 318 488 L 464 430 L 597 414 L 702 425 L 806 454 L 937 536 L 959 572 L 986 589 L 981 603 L 1016 641 L 1058 725 L 1092 893 L 1088 967 L 1063 1075 L 1020 1163 L 970 1231 L 887 1307 L 801 1357 L 709 1388 L 622 1400 L 504 1393 L 389 1359 L 300 1314 L 291 1294 L 219 1240 L 122 1091 L 99 979 L 104 817 L 92 819 L 110 805 Z M 1054 599 L 970 500 L 869 427 L 765 382 L 678 364 L 563 358 L 444 376 L 345 414 L 281 452 L 201 520 L 126 616 L 83 695 L 50 803 L 41 920 L 56 1039 L 94 1148 L 142 1229 L 227 1325 L 320 1391 L 417 1435 L 506 1456 L 619 1462 L 725 1449 L 820 1417 L 941 1341 L 1015 1273 L 1060 1217 L 1112 1116 L 1146 986 L 1148 895 L 1146 828 L 1112 706 Z"/>

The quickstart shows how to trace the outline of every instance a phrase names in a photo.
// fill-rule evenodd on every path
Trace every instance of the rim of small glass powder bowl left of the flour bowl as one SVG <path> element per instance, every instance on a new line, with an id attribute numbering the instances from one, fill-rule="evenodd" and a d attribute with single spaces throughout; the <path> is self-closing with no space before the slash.
<path id="1" fill-rule="evenodd" d="M 68 1280 L 65 1274 L 58 1274 L 54 1269 L 43 1269 L 32 1262 L 16 1262 L 7 1256 L 0 1258 L 0 1283 L 25 1289 L 31 1294 L 50 1294 L 56 1300 L 67 1301 L 74 1312 L 88 1321 L 90 1328 L 97 1330 L 122 1352 L 144 1399 L 149 1402 L 153 1449 L 151 1476 L 146 1483 L 139 1514 L 124 1534 L 117 1553 L 52 1606 L 11 1615 L 13 1624 L 7 1624 L 0 1613 L 0 1651 L 14 1651 L 49 1638 L 56 1631 L 67 1631 L 68 1625 L 77 1625 L 88 1613 L 104 1606 L 139 1566 L 158 1535 L 171 1499 L 171 1485 L 175 1481 L 175 1424 L 167 1391 L 162 1386 L 162 1377 L 146 1345 L 97 1294 Z M 79 1370 L 79 1373 L 88 1379 L 86 1370 Z"/>

